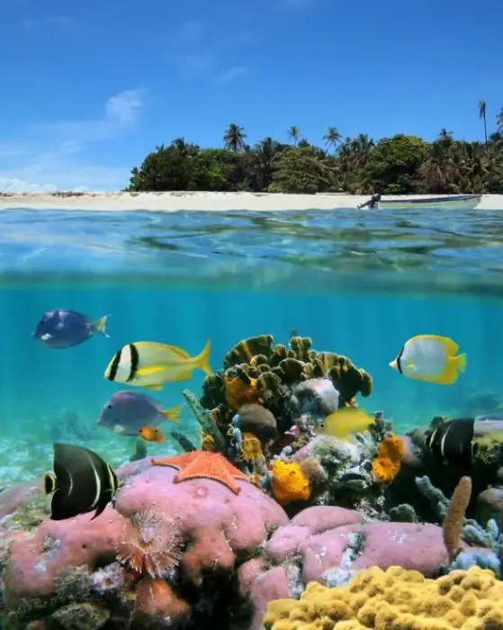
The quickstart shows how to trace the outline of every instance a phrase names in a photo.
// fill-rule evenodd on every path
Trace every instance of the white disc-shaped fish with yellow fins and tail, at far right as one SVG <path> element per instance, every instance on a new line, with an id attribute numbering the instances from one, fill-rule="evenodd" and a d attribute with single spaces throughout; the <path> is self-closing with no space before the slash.
<path id="1" fill-rule="evenodd" d="M 466 370 L 466 355 L 458 355 L 453 339 L 438 335 L 412 337 L 390 367 L 413 381 L 452 385 Z"/>

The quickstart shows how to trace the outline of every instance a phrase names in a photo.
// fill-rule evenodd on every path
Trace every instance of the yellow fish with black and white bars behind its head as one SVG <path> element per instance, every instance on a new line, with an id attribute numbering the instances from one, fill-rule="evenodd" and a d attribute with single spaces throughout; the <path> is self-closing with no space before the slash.
<path id="1" fill-rule="evenodd" d="M 190 356 L 181 347 L 155 341 L 136 341 L 124 346 L 113 356 L 103 375 L 114 383 L 162 390 L 166 383 L 187 381 L 196 368 L 205 374 L 213 374 L 210 350 L 210 339 L 197 356 Z"/>

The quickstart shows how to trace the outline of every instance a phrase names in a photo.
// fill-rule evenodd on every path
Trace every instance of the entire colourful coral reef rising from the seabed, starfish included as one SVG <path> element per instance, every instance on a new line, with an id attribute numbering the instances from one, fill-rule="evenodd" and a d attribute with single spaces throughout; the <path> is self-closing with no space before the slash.
<path id="1" fill-rule="evenodd" d="M 5 628 L 263 630 L 271 600 L 271 630 L 503 627 L 503 416 L 399 436 L 371 392 L 310 338 L 248 338 L 184 390 L 181 453 L 130 442 L 99 518 L 2 492 Z"/>

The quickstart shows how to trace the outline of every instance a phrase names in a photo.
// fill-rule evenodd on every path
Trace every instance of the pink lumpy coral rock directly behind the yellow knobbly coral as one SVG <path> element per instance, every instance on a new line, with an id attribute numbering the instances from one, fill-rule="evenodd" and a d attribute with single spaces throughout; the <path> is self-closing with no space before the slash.
<path id="1" fill-rule="evenodd" d="M 345 584 L 372 566 L 399 565 L 436 577 L 447 563 L 442 528 L 415 523 L 372 522 L 355 510 L 313 507 L 279 527 L 261 558 L 238 570 L 241 594 L 255 607 L 253 628 L 271 599 L 296 598 L 310 581 Z"/>

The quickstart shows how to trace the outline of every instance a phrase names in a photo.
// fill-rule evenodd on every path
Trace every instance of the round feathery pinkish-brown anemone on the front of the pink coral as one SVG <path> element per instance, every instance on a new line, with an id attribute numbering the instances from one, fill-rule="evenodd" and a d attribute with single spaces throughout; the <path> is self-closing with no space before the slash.
<path id="1" fill-rule="evenodd" d="M 150 510 L 126 520 L 117 559 L 139 575 L 169 577 L 181 560 L 182 537 L 172 518 Z"/>

